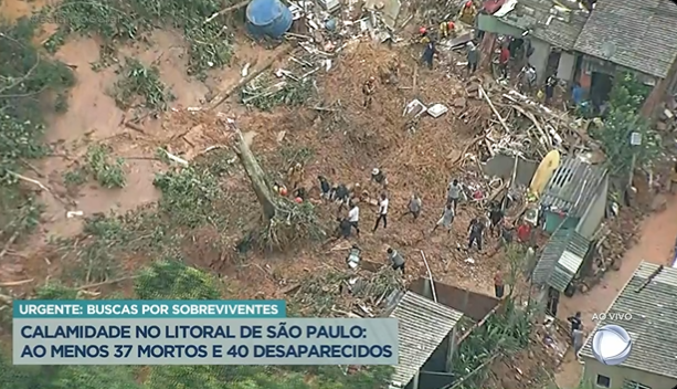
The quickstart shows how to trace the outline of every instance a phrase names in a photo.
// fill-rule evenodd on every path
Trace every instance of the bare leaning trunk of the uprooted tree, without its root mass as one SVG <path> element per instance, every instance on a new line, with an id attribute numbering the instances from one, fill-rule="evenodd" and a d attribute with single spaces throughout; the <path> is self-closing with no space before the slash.
<path id="1" fill-rule="evenodd" d="M 235 134 L 237 134 L 237 149 L 235 150 L 237 158 L 240 158 L 240 162 L 242 162 L 244 171 L 250 177 L 252 189 L 254 189 L 256 199 L 258 199 L 258 203 L 263 209 L 264 218 L 266 221 L 269 221 L 275 217 L 277 207 L 275 207 L 274 195 L 266 182 L 265 172 L 261 166 L 258 166 L 258 161 L 250 149 L 255 134 L 250 133 L 243 135 L 234 123 L 230 123 L 230 127 L 235 132 Z"/>

